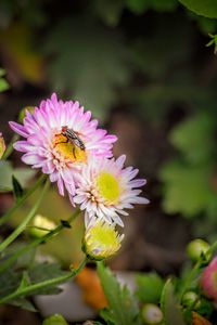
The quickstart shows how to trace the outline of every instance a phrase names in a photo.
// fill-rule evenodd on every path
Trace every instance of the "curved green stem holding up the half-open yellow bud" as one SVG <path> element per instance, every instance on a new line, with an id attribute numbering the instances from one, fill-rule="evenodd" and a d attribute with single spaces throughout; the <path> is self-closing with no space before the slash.
<path id="1" fill-rule="evenodd" d="M 18 297 L 30 296 L 38 290 L 47 289 L 49 287 L 53 287 L 59 284 L 62 284 L 62 283 L 66 282 L 67 280 L 76 276 L 82 270 L 82 268 L 86 265 L 87 261 L 88 261 L 88 259 L 87 259 L 87 257 L 85 257 L 85 259 L 81 261 L 79 266 L 77 269 L 73 270 L 72 272 L 67 273 L 66 275 L 54 277 L 51 280 L 46 280 L 43 282 L 36 283 L 36 284 L 29 285 L 27 287 L 24 287 L 23 289 L 22 288 L 17 289 L 15 292 L 12 292 L 12 294 L 3 297 L 2 299 L 0 299 L 0 303 L 9 302 L 11 300 L 17 299 Z"/>

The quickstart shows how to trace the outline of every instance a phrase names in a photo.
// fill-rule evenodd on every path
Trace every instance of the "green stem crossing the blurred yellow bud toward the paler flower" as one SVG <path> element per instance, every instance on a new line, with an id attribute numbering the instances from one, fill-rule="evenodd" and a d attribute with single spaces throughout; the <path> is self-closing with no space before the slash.
<path id="1" fill-rule="evenodd" d="M 67 219 L 67 222 L 72 223 L 79 213 L 80 213 L 80 210 L 76 209 L 75 212 Z M 10 256 L 8 259 L 5 259 L 3 262 L 0 263 L 0 273 L 2 273 L 11 264 L 13 264 L 13 262 L 16 261 L 20 256 L 26 253 L 28 250 L 33 249 L 34 247 L 37 247 L 41 243 L 47 242 L 52 236 L 59 234 L 63 229 L 64 229 L 64 225 L 60 224 L 54 230 L 52 230 L 48 234 L 46 234 L 44 236 L 37 238 L 37 239 L 33 240 L 30 244 L 20 248 L 14 255 Z"/>

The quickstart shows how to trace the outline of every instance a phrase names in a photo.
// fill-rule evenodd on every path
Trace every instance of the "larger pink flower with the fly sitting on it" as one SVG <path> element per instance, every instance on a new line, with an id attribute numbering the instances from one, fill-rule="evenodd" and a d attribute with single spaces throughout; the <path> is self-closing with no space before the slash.
<path id="1" fill-rule="evenodd" d="M 53 93 L 51 100 L 40 103 L 34 113 L 26 110 L 23 125 L 10 122 L 11 128 L 26 138 L 17 141 L 14 148 L 25 153 L 22 160 L 33 168 L 41 168 L 51 182 L 58 182 L 59 192 L 68 191 L 73 202 L 77 176 L 89 157 L 111 157 L 115 135 L 98 129 L 98 121 L 91 120 L 91 113 L 84 112 L 78 102 L 59 101 Z M 64 129 L 72 129 L 84 148 L 76 141 L 69 141 Z"/>

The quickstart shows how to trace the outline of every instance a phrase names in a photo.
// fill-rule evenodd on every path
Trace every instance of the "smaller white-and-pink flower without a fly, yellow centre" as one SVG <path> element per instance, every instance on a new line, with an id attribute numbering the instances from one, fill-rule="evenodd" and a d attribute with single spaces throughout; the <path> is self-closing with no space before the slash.
<path id="1" fill-rule="evenodd" d="M 141 187 L 145 180 L 136 179 L 138 169 L 124 167 L 126 156 L 118 159 L 91 159 L 82 168 L 79 186 L 74 198 L 80 204 L 80 209 L 86 210 L 86 224 L 92 218 L 101 218 L 108 223 L 124 225 L 118 214 L 128 213 L 133 204 L 148 204 L 149 200 L 140 197 Z"/>

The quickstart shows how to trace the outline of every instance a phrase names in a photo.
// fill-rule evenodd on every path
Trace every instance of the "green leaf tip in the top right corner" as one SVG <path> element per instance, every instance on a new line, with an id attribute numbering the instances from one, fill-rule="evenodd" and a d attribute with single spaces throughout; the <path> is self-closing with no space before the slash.
<path id="1" fill-rule="evenodd" d="M 209 18 L 217 18 L 217 1 L 216 0 L 179 0 L 189 10 Z"/>

